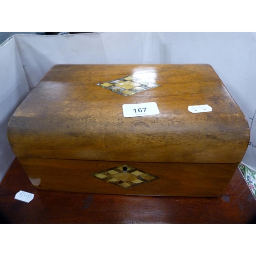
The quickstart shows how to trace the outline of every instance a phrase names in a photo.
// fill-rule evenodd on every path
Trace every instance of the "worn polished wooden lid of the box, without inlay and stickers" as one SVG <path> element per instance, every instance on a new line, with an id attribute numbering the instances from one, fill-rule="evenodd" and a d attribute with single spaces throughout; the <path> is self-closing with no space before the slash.
<path id="1" fill-rule="evenodd" d="M 96 86 L 131 75 L 160 87 L 122 96 Z M 159 115 L 125 118 L 122 105 Z M 208 104 L 212 112 L 190 113 Z M 57 65 L 11 117 L 17 157 L 122 162 L 239 163 L 249 127 L 209 65 Z"/>

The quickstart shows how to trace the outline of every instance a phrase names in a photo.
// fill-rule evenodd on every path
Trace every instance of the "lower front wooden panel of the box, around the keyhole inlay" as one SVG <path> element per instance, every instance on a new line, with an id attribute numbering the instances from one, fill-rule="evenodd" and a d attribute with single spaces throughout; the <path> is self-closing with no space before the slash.
<path id="1" fill-rule="evenodd" d="M 138 163 L 18 158 L 39 189 L 144 196 L 220 196 L 237 164 Z M 127 164 L 158 179 L 123 188 L 92 174 Z"/>

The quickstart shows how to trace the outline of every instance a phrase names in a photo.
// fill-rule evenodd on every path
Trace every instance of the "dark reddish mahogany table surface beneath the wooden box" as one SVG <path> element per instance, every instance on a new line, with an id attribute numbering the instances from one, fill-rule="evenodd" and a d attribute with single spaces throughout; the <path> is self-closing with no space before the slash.
<path id="1" fill-rule="evenodd" d="M 15 200 L 19 190 L 34 199 Z M 37 190 L 15 159 L 0 183 L 0 212 L 7 223 L 253 223 L 256 200 L 239 169 L 218 198 L 120 196 Z"/>

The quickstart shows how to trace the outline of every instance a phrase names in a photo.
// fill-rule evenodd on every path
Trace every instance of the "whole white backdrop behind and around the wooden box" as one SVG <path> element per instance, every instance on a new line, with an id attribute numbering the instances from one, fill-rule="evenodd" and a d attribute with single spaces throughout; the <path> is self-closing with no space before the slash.
<path id="1" fill-rule="evenodd" d="M 255 38 L 252 32 L 15 35 L 0 48 L 0 181 L 14 159 L 6 136 L 10 115 L 28 94 L 29 88 L 35 87 L 53 65 L 208 63 L 251 125 L 256 109 Z M 250 157 L 245 164 L 256 169 L 256 163 L 251 160 L 256 158 L 254 148 L 249 150 Z"/>

